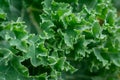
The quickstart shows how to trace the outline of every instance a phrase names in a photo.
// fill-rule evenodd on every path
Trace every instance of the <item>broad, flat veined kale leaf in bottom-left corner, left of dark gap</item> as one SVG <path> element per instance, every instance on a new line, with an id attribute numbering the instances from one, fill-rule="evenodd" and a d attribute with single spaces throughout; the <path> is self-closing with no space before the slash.
<path id="1" fill-rule="evenodd" d="M 19 65 L 14 66 L 13 64 L 12 66 L 11 64 L 9 64 L 8 66 L 6 66 L 4 64 L 0 64 L 0 80 L 33 80 L 33 78 L 25 77 L 25 75 L 20 73 L 20 69 L 23 68 L 21 68 Z"/>

